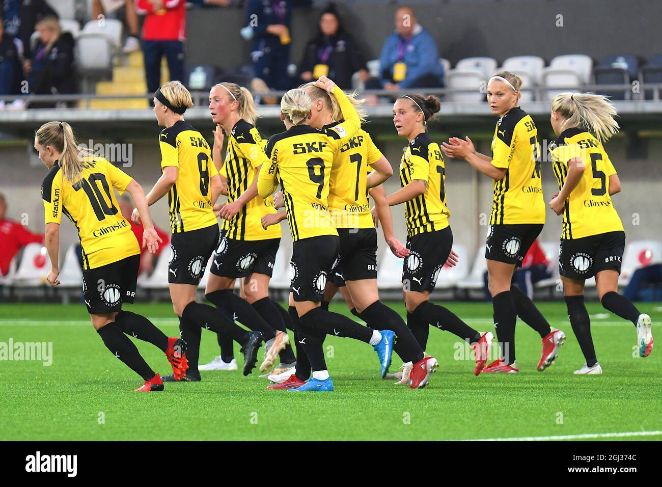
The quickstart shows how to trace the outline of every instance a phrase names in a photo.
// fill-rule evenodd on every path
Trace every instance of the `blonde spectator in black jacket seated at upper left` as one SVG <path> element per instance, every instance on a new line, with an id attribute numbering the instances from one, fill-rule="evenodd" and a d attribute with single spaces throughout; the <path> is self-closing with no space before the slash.
<path id="1" fill-rule="evenodd" d="M 62 32 L 57 17 L 44 17 L 37 23 L 36 30 L 39 37 L 30 66 L 25 71 L 30 93 L 75 93 L 73 36 L 69 32 Z M 40 103 L 39 106 L 44 107 L 44 104 Z M 30 107 L 34 106 L 30 104 Z"/>

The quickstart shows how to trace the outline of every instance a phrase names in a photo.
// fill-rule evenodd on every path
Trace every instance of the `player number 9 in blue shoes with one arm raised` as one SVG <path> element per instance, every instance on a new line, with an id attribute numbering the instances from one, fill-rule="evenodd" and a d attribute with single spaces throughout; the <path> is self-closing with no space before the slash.
<path id="1" fill-rule="evenodd" d="M 271 195 L 280 183 L 294 241 L 290 305 L 297 311 L 297 341 L 303 345 L 312 368 L 308 382 L 303 382 L 308 377 L 293 374 L 282 384 L 283 388 L 294 386 L 291 390 L 297 391 L 333 390 L 322 349 L 327 333 L 373 345 L 382 370 L 388 369 L 391 362 L 394 336 L 393 331 L 380 333 L 320 307 L 340 244 L 328 209 L 330 170 L 336 153 L 357 133 L 361 121 L 333 81 L 322 77 L 316 85 L 333 91 L 345 122 L 324 131 L 310 127 L 310 97 L 302 89 L 291 89 L 281 100 L 281 120 L 287 131 L 269 138 L 265 152 L 271 162 L 258 176 L 261 197 Z M 302 358 L 299 352 L 297 370 Z"/>

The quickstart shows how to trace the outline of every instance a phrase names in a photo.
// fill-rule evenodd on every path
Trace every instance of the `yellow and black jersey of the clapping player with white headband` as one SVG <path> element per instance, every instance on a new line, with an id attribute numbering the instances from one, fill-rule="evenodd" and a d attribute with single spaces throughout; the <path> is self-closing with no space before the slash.
<path id="1" fill-rule="evenodd" d="M 496 123 L 492 165 L 505 168 L 506 174 L 494 182 L 490 223 L 545 223 L 538 129 L 520 107 L 511 109 Z"/>

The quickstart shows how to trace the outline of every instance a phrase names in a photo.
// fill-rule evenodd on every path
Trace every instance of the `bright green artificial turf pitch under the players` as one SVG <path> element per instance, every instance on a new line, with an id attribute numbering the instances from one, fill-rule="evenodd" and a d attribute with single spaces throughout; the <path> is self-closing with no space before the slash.
<path id="1" fill-rule="evenodd" d="M 402 303 L 389 303 L 404 313 Z M 491 305 L 446 303 L 479 331 L 494 331 Z M 640 309 L 662 317 L 657 303 Z M 473 375 L 464 345 L 448 332 L 430 330 L 427 352 L 440 368 L 423 390 L 381 380 L 372 347 L 328 337 L 330 393 L 267 391 L 257 370 L 202 372 L 197 383 L 166 384 L 141 394 L 142 379 L 103 345 L 83 305 L 0 305 L 0 343 L 52 343 L 50 366 L 0 361 L 0 437 L 4 440 L 454 440 L 547 437 L 662 430 L 659 374 L 662 354 L 634 358 L 631 323 L 589 303 L 602 376 L 574 376 L 584 363 L 565 303 L 541 303 L 567 341 L 555 365 L 536 371 L 540 337 L 517 326 L 520 374 Z M 178 333 L 171 306 L 128 307 L 152 319 L 167 335 Z M 333 311 L 346 307 L 332 303 Z M 351 316 L 351 315 L 350 315 Z M 148 363 L 171 372 L 156 347 L 135 341 Z M 201 363 L 218 354 L 216 337 L 203 331 Z M 243 357 L 235 347 L 240 369 Z M 260 352 L 261 356 L 261 352 Z M 401 361 L 394 354 L 391 371 Z M 608 438 L 607 438 L 608 439 Z M 662 439 L 661 434 L 628 439 Z"/>

